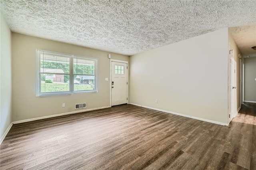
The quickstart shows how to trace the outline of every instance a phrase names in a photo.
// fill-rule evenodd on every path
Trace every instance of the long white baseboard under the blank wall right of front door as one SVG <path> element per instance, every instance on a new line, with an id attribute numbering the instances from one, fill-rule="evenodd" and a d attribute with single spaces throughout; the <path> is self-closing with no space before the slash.
<path id="1" fill-rule="evenodd" d="M 228 123 L 222 123 L 222 122 L 212 121 L 212 120 L 204 119 L 204 118 L 200 118 L 200 117 L 194 117 L 194 116 L 184 115 L 184 114 L 181 114 L 181 113 L 176 113 L 176 112 L 172 112 L 172 111 L 166 111 L 166 110 L 157 109 L 157 108 L 154 108 L 154 107 L 148 107 L 148 106 L 138 105 L 138 104 L 135 104 L 135 103 L 128 103 L 128 104 L 130 104 L 130 105 L 135 105 L 135 106 L 140 106 L 140 107 L 145 107 L 145 108 L 148 108 L 148 109 L 153 109 L 153 110 L 156 110 L 156 111 L 162 111 L 162 112 L 166 112 L 166 113 L 170 113 L 170 114 L 174 114 L 174 115 L 179 115 L 179 116 L 183 116 L 183 117 L 188 117 L 188 118 L 196 119 L 196 120 L 199 120 L 199 121 L 214 123 L 214 124 L 217 124 L 217 125 L 228 126 Z"/>

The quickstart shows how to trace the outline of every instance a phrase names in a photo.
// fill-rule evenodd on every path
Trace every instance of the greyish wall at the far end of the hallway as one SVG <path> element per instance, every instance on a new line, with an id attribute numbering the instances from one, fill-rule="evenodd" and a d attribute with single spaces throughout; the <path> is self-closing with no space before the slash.
<path id="1" fill-rule="evenodd" d="M 244 58 L 244 101 L 256 102 L 256 57 Z"/>

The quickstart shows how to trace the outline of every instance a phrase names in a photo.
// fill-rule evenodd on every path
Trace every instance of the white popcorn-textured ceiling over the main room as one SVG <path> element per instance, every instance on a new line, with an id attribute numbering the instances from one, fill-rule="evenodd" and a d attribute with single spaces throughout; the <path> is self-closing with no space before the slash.
<path id="1" fill-rule="evenodd" d="M 256 25 L 254 0 L 0 0 L 0 5 L 13 32 L 125 55 Z"/>

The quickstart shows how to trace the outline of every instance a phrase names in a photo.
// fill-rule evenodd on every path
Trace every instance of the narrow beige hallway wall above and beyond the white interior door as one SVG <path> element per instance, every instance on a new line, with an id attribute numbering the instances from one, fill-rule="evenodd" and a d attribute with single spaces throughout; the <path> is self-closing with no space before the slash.
<path id="1" fill-rule="evenodd" d="M 236 93 L 235 93 L 235 100 L 234 104 L 236 105 L 236 110 L 239 109 L 241 106 L 241 97 L 240 97 L 240 67 L 241 67 L 241 59 L 238 58 L 238 54 L 240 54 L 240 51 L 236 45 L 236 42 L 234 38 L 232 37 L 230 31 L 228 31 L 228 44 L 230 44 L 230 49 L 233 49 L 234 51 L 234 68 L 236 69 L 236 73 L 234 73 L 234 86 L 236 87 Z"/>

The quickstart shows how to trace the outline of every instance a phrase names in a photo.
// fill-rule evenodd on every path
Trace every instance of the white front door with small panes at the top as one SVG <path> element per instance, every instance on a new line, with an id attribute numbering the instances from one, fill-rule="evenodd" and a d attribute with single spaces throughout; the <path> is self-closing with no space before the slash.
<path id="1" fill-rule="evenodd" d="M 111 61 L 111 106 L 127 103 L 127 63 Z"/>

